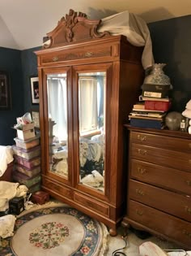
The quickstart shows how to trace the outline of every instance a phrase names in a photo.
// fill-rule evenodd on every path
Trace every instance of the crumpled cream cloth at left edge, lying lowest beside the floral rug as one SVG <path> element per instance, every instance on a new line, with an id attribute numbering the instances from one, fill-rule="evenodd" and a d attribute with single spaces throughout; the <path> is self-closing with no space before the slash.
<path id="1" fill-rule="evenodd" d="M 16 217 L 14 215 L 5 215 L 0 217 L 0 237 L 6 238 L 13 236 Z"/>

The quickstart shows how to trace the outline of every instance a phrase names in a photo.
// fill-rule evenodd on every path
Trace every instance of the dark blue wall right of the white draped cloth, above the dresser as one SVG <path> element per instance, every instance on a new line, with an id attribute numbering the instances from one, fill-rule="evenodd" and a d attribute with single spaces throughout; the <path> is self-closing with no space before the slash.
<path id="1" fill-rule="evenodd" d="M 155 63 L 167 63 L 163 70 L 173 85 L 172 108 L 182 112 L 191 99 L 191 15 L 151 23 L 148 27 Z"/>

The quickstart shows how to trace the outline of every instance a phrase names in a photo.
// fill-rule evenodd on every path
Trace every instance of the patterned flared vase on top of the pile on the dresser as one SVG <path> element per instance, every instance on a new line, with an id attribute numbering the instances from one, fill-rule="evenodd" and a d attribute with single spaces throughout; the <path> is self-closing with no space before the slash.
<path id="1" fill-rule="evenodd" d="M 150 74 L 146 76 L 144 84 L 171 85 L 170 78 L 163 72 L 164 66 L 166 66 L 165 63 L 155 63 L 152 66 Z"/>

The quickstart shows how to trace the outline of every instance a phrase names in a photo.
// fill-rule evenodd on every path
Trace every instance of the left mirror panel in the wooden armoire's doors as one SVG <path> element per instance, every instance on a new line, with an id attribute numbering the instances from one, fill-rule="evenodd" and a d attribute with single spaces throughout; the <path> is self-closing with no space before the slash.
<path id="1" fill-rule="evenodd" d="M 49 171 L 68 179 L 68 117 L 66 73 L 47 76 Z"/>

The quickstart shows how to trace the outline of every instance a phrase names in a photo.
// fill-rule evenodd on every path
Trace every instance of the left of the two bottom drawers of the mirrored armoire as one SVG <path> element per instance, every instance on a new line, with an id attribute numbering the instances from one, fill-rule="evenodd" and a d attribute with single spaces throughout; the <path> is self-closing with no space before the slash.
<path id="1" fill-rule="evenodd" d="M 63 187 L 59 184 L 56 184 L 50 180 L 46 180 L 43 178 L 43 186 L 49 190 L 53 190 L 55 193 L 61 194 L 64 197 L 72 198 L 72 190 L 67 189 L 66 187 Z"/>

